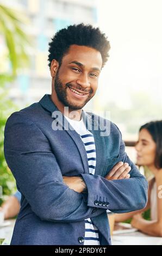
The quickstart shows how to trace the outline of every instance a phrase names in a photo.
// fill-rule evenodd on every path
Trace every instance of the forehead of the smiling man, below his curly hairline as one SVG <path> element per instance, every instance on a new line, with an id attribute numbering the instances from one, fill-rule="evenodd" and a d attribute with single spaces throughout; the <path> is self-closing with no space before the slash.
<path id="1" fill-rule="evenodd" d="M 101 53 L 91 47 L 71 45 L 67 54 L 63 57 L 62 63 L 68 64 L 74 60 L 82 63 L 85 67 L 99 69 L 102 67 Z"/>

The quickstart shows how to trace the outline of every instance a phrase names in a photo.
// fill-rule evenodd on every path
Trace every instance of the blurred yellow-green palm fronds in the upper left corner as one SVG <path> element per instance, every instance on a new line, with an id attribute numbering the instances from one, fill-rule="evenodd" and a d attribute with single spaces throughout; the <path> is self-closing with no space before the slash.
<path id="1" fill-rule="evenodd" d="M 9 73 L 0 74 L 0 78 L 15 77 L 18 68 L 29 64 L 26 49 L 30 45 L 29 36 L 23 32 L 28 19 L 16 10 L 0 4 L 0 34 L 4 37 L 8 49 Z"/>

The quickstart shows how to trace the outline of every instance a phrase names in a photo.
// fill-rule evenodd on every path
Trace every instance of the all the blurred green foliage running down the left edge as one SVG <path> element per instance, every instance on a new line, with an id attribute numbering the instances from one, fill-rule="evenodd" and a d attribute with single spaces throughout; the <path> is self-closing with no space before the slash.
<path id="1" fill-rule="evenodd" d="M 9 115 L 17 110 L 17 107 L 8 97 L 8 82 L 16 78 L 18 69 L 25 68 L 29 64 L 27 47 L 31 47 L 29 37 L 23 32 L 23 26 L 28 19 L 18 11 L 0 4 L 0 36 L 4 38 L 7 54 L 0 60 L 2 66 L 8 62 L 9 69 L 0 70 L 0 186 L 3 195 L 9 195 L 15 190 L 15 179 L 5 162 L 3 143 L 4 126 Z M 1 66 L 1 65 L 0 65 Z M 0 204 L 2 199 L 0 199 Z"/>

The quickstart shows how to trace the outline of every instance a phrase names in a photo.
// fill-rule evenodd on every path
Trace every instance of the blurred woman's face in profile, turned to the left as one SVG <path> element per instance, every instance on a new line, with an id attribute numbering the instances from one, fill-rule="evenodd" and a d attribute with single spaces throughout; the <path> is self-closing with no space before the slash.
<path id="1" fill-rule="evenodd" d="M 156 143 L 146 129 L 139 132 L 139 140 L 135 149 L 137 151 L 136 164 L 139 166 L 154 166 Z"/>

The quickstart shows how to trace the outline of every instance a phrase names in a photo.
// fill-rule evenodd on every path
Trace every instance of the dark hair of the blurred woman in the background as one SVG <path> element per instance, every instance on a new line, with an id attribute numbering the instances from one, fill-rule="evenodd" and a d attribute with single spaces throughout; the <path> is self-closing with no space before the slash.
<path id="1" fill-rule="evenodd" d="M 154 164 L 156 168 L 160 169 L 162 168 L 162 120 L 144 124 L 139 131 L 142 129 L 146 129 L 150 133 L 157 145 Z"/>

